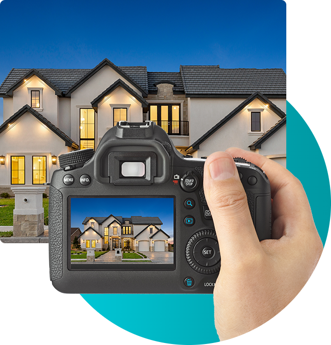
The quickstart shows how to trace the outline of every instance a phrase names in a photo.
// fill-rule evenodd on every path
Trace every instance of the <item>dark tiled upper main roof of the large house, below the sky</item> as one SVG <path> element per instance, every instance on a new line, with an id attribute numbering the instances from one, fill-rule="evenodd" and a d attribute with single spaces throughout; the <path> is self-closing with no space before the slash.
<path id="1" fill-rule="evenodd" d="M 0 97 L 11 97 L 14 88 L 31 73 L 43 79 L 60 93 L 59 96 L 70 97 L 71 92 L 106 65 L 134 85 L 143 97 L 156 94 L 156 85 L 160 82 L 170 82 L 174 85 L 174 94 L 185 93 L 186 97 L 248 97 L 256 91 L 267 97 L 286 97 L 286 74 L 281 68 L 224 69 L 219 65 L 181 65 L 179 72 L 148 72 L 146 66 L 118 67 L 108 59 L 92 69 L 13 68 L 0 86 Z"/>

